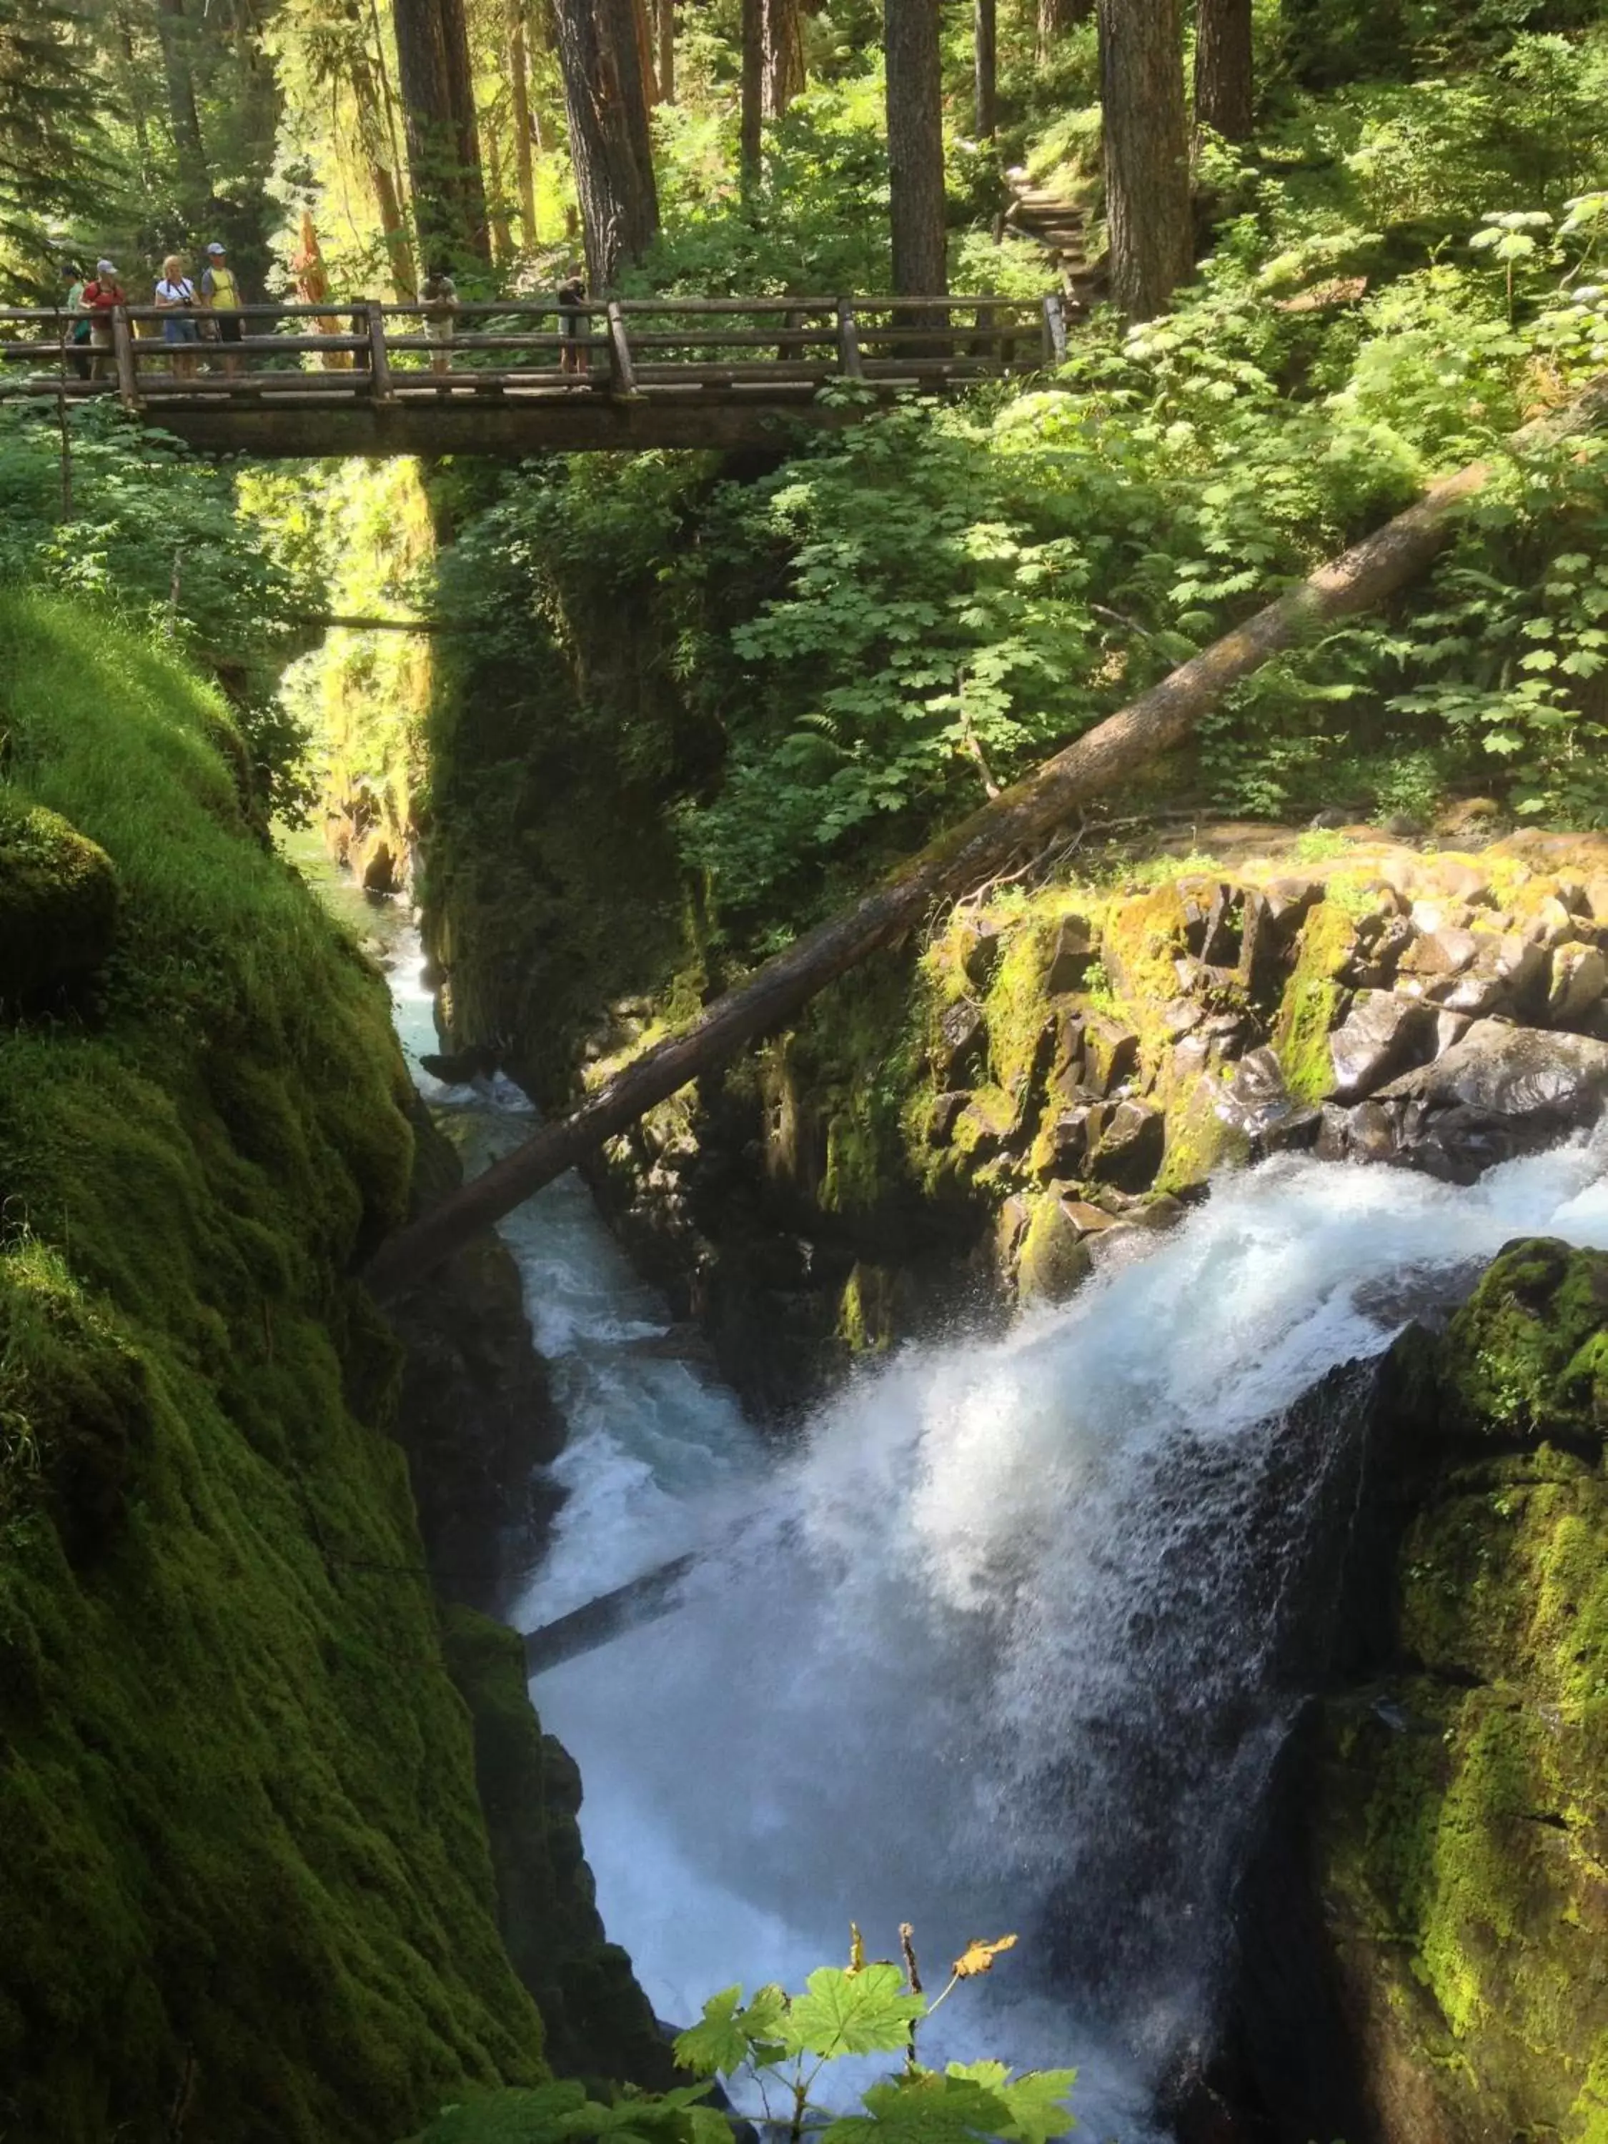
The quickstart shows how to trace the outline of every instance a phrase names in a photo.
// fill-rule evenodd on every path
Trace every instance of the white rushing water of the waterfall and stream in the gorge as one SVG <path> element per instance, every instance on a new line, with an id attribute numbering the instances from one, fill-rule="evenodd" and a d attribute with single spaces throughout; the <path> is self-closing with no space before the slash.
<path id="1" fill-rule="evenodd" d="M 506 1085 L 425 1087 L 487 1151 L 521 1132 Z M 1289 1711 L 1304 1516 L 1327 1497 L 1344 1533 L 1357 1488 L 1344 1406 L 1286 1411 L 1507 1239 L 1608 1248 L 1604 1166 L 1578 1143 L 1456 1190 L 1282 1158 L 1008 1338 L 903 1351 L 787 1449 L 643 1353 L 665 1310 L 579 1183 L 521 1209 L 570 1443 L 517 1621 L 712 1544 L 686 1606 L 534 1687 L 658 2013 L 798 1985 L 851 1919 L 873 1955 L 909 1919 L 933 1968 L 1021 1932 L 928 2054 L 1074 2063 L 1085 2135 L 1147 2135 Z"/>

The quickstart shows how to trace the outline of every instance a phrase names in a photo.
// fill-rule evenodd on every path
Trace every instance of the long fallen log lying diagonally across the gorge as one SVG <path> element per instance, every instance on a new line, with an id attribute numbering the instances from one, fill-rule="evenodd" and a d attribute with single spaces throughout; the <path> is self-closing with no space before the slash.
<path id="1" fill-rule="evenodd" d="M 1550 446 L 1604 420 L 1608 379 L 1514 433 L 1507 452 Z M 1460 508 L 1486 487 L 1490 474 L 1490 463 L 1475 461 L 1456 476 L 1441 478 L 1406 512 L 1342 557 L 1319 566 L 1299 587 L 1256 611 L 1087 738 L 1068 744 L 1036 774 L 941 834 L 851 909 L 765 961 L 748 982 L 716 999 L 686 1033 L 654 1044 L 568 1117 L 545 1123 L 523 1147 L 493 1162 L 474 1183 L 452 1192 L 384 1244 L 364 1274 L 373 1293 L 382 1301 L 401 1295 L 605 1138 L 613 1138 L 680 1087 L 718 1070 L 750 1042 L 785 1027 L 830 982 L 915 928 L 935 900 L 993 877 L 1018 849 L 1042 843 L 1078 804 L 1181 744 L 1201 716 L 1263 662 L 1336 620 L 1355 617 L 1394 596 L 1432 564 L 1451 538 Z"/>

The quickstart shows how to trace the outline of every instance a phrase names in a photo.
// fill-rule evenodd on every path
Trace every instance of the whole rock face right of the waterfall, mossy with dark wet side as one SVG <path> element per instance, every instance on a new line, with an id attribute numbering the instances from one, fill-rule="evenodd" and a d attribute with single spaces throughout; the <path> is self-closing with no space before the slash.
<path id="1" fill-rule="evenodd" d="M 1379 1387 L 1329 1692 L 1244 1887 L 1278 2135 L 1602 2135 L 1608 1256 L 1509 1246 Z"/>

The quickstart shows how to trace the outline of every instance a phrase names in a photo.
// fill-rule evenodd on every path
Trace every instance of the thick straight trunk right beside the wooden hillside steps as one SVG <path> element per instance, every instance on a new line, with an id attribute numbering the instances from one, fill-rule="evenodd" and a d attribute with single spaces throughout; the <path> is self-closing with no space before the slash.
<path id="1" fill-rule="evenodd" d="M 1190 135 L 1179 0 L 1100 0 L 1111 294 L 1164 313 L 1190 272 Z"/>

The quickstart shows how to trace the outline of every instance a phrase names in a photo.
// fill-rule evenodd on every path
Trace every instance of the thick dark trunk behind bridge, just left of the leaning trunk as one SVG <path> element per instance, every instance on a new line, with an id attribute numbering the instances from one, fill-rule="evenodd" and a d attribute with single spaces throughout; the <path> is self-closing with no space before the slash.
<path id="1" fill-rule="evenodd" d="M 435 259 L 489 266 L 491 229 L 463 0 L 390 0 L 390 13 L 425 266 Z"/>

